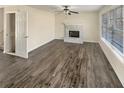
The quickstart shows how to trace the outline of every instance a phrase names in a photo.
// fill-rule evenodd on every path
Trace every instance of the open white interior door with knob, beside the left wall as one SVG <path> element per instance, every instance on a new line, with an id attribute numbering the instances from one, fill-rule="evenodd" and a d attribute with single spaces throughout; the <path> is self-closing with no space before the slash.
<path id="1" fill-rule="evenodd" d="M 16 55 L 28 58 L 27 51 L 27 12 L 16 14 Z"/>

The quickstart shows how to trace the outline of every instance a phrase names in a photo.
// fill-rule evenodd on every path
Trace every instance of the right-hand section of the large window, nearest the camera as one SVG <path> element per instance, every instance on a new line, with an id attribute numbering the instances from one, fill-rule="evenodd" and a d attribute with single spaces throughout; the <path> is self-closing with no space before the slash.
<path id="1" fill-rule="evenodd" d="M 114 9 L 114 26 L 112 33 L 112 45 L 123 53 L 123 18 L 122 6 Z"/>

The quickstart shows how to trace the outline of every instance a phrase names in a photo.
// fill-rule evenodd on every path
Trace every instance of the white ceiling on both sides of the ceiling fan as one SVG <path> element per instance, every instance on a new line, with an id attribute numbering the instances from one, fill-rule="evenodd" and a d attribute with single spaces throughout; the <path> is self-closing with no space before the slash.
<path id="1" fill-rule="evenodd" d="M 51 12 L 61 11 L 63 9 L 62 5 L 30 5 L 30 6 Z M 69 6 L 70 6 L 69 9 L 78 12 L 99 11 L 103 7 L 103 5 L 69 5 Z"/>

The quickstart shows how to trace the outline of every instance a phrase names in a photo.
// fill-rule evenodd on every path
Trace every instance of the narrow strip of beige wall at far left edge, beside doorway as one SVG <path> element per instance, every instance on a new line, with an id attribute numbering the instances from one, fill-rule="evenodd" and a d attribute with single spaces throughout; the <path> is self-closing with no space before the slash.
<path id="1" fill-rule="evenodd" d="M 0 8 L 0 48 L 3 47 L 3 8 Z"/>

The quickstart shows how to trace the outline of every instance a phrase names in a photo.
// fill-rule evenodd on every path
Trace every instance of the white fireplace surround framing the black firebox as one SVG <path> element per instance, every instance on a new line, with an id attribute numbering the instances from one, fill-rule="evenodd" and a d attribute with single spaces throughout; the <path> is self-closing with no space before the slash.
<path id="1" fill-rule="evenodd" d="M 83 44 L 83 26 L 82 25 L 64 24 L 64 27 L 65 27 L 64 42 Z M 69 31 L 79 31 L 79 38 L 69 37 Z"/>

